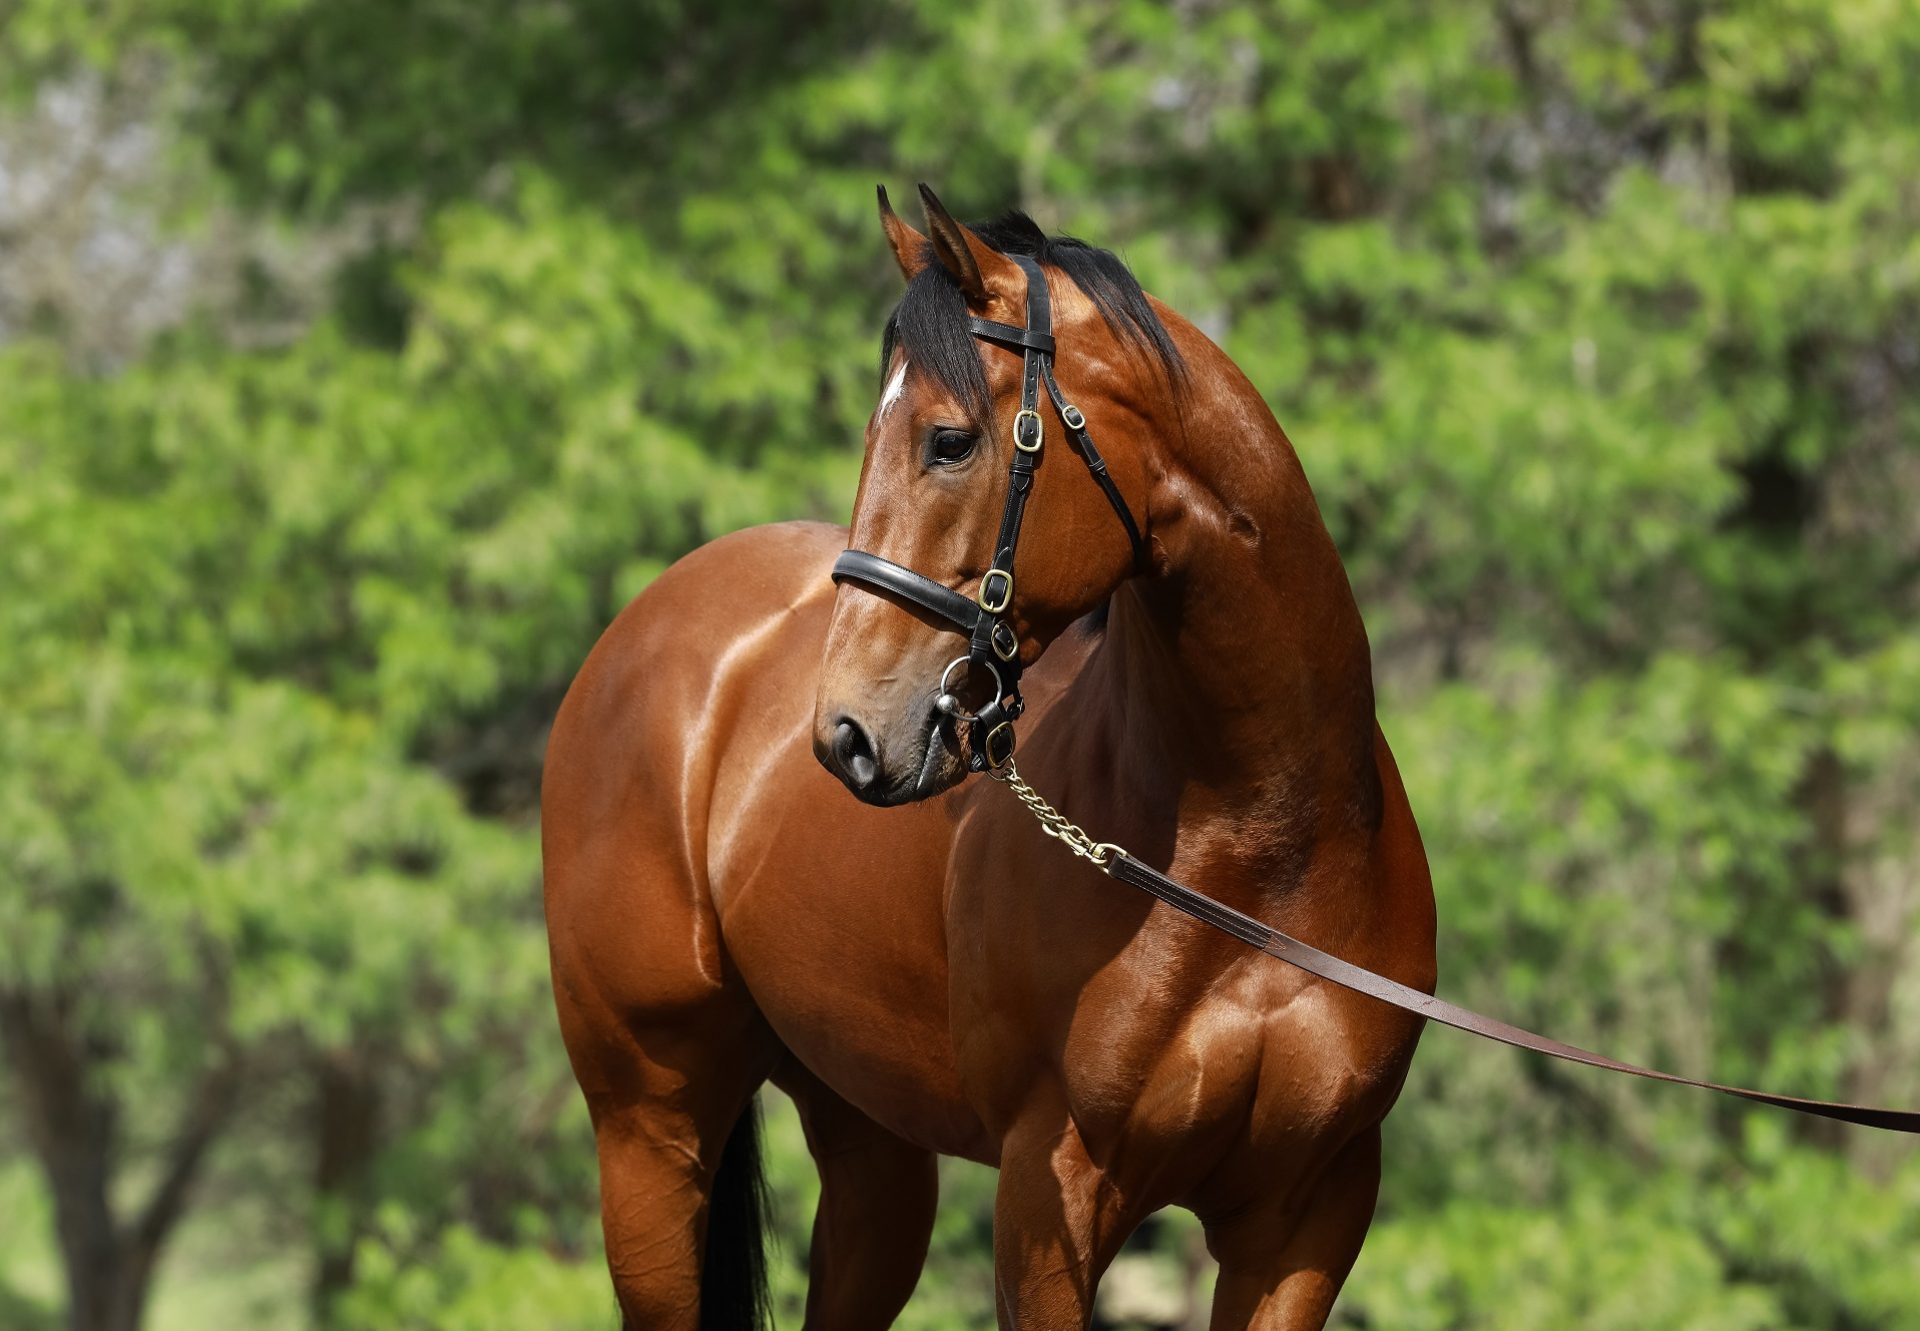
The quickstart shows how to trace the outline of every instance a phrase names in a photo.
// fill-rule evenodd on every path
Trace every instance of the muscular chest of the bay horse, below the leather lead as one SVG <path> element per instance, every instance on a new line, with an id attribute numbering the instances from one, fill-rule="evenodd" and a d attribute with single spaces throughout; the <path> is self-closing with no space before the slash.
<path id="1" fill-rule="evenodd" d="M 1346 995 L 1081 878 L 952 901 L 956 1051 L 989 1125 L 1054 1104 L 1096 1160 L 1181 1193 L 1250 1143 L 1311 1152 L 1367 1112 L 1382 1060 Z"/>

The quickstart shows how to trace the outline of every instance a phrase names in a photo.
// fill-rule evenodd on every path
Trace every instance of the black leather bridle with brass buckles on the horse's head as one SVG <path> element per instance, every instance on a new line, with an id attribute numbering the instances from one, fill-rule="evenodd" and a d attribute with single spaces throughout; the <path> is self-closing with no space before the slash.
<path id="1" fill-rule="evenodd" d="M 1033 472 L 1041 467 L 1041 444 L 1046 430 L 1041 423 L 1041 386 L 1054 401 L 1060 423 L 1068 438 L 1079 449 L 1092 472 L 1100 494 L 1114 505 L 1121 524 L 1127 528 L 1127 542 L 1133 545 L 1133 567 L 1146 567 L 1146 542 L 1140 528 L 1127 511 L 1127 501 L 1106 472 L 1106 459 L 1092 446 L 1087 434 L 1087 417 L 1069 403 L 1054 380 L 1054 334 L 1052 302 L 1046 294 L 1046 277 L 1041 265 L 1027 255 L 1008 255 L 1027 275 L 1027 327 L 1016 328 L 1010 323 L 991 319 L 968 319 L 968 330 L 975 338 L 998 342 L 1021 353 L 1020 411 L 1014 413 L 1014 461 L 1006 469 L 1006 507 L 1000 511 L 1000 534 L 993 544 L 993 559 L 979 578 L 979 588 L 972 597 L 954 592 L 943 582 L 914 572 L 891 559 L 870 555 L 862 549 L 849 549 L 833 561 L 833 580 L 852 582 L 868 592 L 885 592 L 929 611 L 968 636 L 968 655 L 956 657 L 941 676 L 939 707 L 954 720 L 968 724 L 968 766 L 975 772 L 1006 766 L 1014 757 L 1014 722 L 1025 711 L 1020 697 L 1020 634 L 1008 618 L 1014 605 L 1014 551 L 1020 545 L 1020 524 L 1027 515 L 1027 497 L 1033 492 Z M 977 665 L 995 680 L 995 695 L 977 713 L 964 713 L 947 680 L 954 666 Z"/>

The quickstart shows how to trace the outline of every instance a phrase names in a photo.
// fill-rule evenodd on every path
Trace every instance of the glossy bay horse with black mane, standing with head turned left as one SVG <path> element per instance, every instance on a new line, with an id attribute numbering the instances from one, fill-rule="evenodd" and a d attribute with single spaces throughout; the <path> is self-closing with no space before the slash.
<path id="1" fill-rule="evenodd" d="M 998 1168 L 1000 1327 L 1089 1325 L 1164 1206 L 1204 1223 L 1217 1331 L 1319 1327 L 1419 1018 L 1123 891 L 968 782 L 1002 761 L 962 724 L 1006 703 L 958 701 L 983 657 L 954 676 L 950 615 L 831 574 L 854 549 L 998 605 L 1033 789 L 1430 993 L 1432 885 L 1340 557 L 1260 392 L 1116 255 L 1020 213 L 964 227 L 925 186 L 920 232 L 879 198 L 906 290 L 851 530 L 762 526 L 676 563 L 599 640 L 547 749 L 553 989 L 624 1321 L 764 1319 L 770 1079 L 820 1172 L 808 1327 L 891 1325 L 937 1154 Z M 1071 398 L 1044 423 L 1016 336 L 1035 300 Z M 1073 444 L 1052 465 L 1043 424 Z M 1014 561 L 995 526 L 1029 446 Z"/>

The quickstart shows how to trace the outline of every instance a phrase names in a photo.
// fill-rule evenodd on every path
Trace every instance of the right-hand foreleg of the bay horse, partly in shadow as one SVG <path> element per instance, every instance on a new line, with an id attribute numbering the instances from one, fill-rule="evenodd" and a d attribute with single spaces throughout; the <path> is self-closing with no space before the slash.
<path id="1" fill-rule="evenodd" d="M 1380 1129 L 1329 1162 L 1304 1204 L 1238 1210 L 1208 1223 L 1219 1260 L 1212 1331 L 1315 1331 L 1327 1325 L 1380 1191 Z"/>

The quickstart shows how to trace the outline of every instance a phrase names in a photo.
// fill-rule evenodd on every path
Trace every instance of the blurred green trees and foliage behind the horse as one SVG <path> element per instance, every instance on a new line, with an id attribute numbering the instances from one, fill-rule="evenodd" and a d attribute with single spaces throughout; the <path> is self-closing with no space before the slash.
<path id="1" fill-rule="evenodd" d="M 877 181 L 1265 392 L 1444 993 L 1920 1102 L 1916 79 L 1908 0 L 0 0 L 0 1327 L 614 1323 L 541 743 L 847 513 Z M 991 1323 L 991 1189 L 902 1325 Z M 1903 1139 L 1432 1029 L 1336 1325 L 1920 1327 L 1916 1252 Z M 1206 1283 L 1164 1216 L 1102 1325 Z"/>

